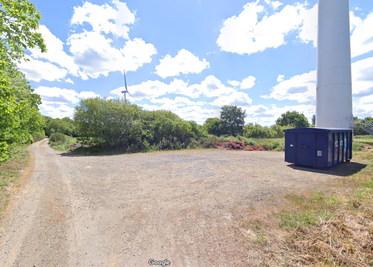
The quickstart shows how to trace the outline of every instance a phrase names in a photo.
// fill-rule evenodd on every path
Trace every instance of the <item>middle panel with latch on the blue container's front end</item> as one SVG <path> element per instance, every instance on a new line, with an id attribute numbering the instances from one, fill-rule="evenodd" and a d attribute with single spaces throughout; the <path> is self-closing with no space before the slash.
<path id="1" fill-rule="evenodd" d="M 314 166 L 314 133 L 297 133 L 295 163 Z"/>

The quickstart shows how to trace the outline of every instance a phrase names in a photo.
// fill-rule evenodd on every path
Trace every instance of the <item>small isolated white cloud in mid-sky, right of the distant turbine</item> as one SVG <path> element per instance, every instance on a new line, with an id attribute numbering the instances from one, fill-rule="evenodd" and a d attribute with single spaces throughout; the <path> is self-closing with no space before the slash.
<path id="1" fill-rule="evenodd" d="M 200 73 L 210 67 L 205 58 L 200 60 L 188 50 L 182 49 L 175 57 L 166 55 L 159 60 L 155 73 L 163 79 L 170 76 L 179 76 L 180 73 Z"/>

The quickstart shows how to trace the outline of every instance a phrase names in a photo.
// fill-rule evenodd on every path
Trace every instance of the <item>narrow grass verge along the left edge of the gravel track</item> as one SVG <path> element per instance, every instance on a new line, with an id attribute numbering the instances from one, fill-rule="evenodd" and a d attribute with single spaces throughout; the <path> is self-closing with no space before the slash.
<path id="1" fill-rule="evenodd" d="M 0 214 L 6 207 L 10 189 L 21 177 L 26 168 L 30 155 L 26 144 L 12 146 L 12 158 L 0 163 Z"/>

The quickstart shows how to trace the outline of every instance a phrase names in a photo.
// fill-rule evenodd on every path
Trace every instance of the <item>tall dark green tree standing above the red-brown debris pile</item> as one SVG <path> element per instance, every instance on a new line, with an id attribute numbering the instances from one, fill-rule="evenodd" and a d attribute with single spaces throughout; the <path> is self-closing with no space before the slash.
<path id="1" fill-rule="evenodd" d="M 232 136 L 242 134 L 245 117 L 246 112 L 237 106 L 222 106 L 220 111 L 222 130 Z"/>

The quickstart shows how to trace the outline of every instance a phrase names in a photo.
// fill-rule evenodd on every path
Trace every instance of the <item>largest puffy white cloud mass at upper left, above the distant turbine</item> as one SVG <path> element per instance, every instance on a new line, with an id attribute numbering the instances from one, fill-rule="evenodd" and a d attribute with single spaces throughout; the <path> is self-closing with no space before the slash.
<path id="1" fill-rule="evenodd" d="M 135 12 L 131 12 L 124 2 L 113 0 L 111 4 L 100 6 L 85 2 L 74 7 L 70 26 L 77 27 L 71 30 L 66 43 L 53 35 L 47 26 L 40 25 L 38 32 L 45 40 L 47 52 L 29 49 L 30 58 L 34 60 L 20 65 L 28 79 L 54 81 L 71 74 L 88 80 L 123 68 L 135 71 L 150 63 L 151 56 L 157 53 L 154 45 L 141 38 L 129 39 L 126 25 L 135 22 Z"/>

